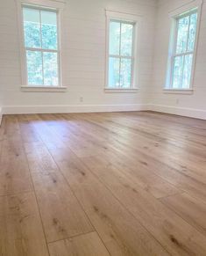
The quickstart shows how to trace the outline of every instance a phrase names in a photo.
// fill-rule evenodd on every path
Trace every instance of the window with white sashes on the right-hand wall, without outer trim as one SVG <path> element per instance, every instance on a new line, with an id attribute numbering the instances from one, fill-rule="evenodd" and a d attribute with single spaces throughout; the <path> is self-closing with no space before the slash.
<path id="1" fill-rule="evenodd" d="M 198 9 L 183 12 L 174 17 L 169 75 L 166 89 L 189 90 L 195 62 Z"/>

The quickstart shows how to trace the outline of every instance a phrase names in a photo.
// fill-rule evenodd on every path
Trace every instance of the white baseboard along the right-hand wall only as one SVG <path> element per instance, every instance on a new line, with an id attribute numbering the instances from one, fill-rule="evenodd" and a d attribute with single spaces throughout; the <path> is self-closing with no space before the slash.
<path id="1" fill-rule="evenodd" d="M 202 120 L 206 120 L 206 110 L 195 109 L 189 107 L 177 107 L 177 106 L 163 106 L 163 105 L 149 105 L 149 110 L 162 113 L 172 113 L 181 116 L 193 117 Z"/>

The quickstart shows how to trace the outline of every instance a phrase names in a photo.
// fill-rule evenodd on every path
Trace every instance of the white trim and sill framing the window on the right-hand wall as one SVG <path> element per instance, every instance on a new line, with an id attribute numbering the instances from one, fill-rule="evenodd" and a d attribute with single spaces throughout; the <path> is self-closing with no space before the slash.
<path id="1" fill-rule="evenodd" d="M 177 40 L 177 21 L 181 14 L 189 13 L 190 11 L 196 10 L 197 12 L 197 22 L 196 22 L 196 33 L 195 33 L 195 47 L 193 54 L 193 62 L 191 69 L 191 77 L 189 88 L 173 88 L 173 69 L 174 69 L 174 56 L 175 54 L 175 46 Z M 195 0 L 192 3 L 184 4 L 180 8 L 175 11 L 171 11 L 169 16 L 171 18 L 171 33 L 170 33 L 170 41 L 169 41 L 169 51 L 168 51 L 168 60 L 167 60 L 167 77 L 166 83 L 164 86 L 164 92 L 166 93 L 181 93 L 181 94 L 191 94 L 194 91 L 194 75 L 195 75 L 195 60 L 196 60 L 196 52 L 197 52 L 197 44 L 199 38 L 199 30 L 200 30 L 200 19 L 201 19 L 201 11 L 202 11 L 202 0 Z M 187 53 L 188 55 L 189 53 Z M 186 55 L 186 54 L 183 54 Z"/>

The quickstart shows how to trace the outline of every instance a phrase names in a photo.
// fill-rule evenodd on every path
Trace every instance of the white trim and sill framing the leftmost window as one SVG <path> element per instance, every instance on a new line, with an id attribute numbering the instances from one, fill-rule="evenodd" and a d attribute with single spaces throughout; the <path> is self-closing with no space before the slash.
<path id="1" fill-rule="evenodd" d="M 19 31 L 19 43 L 20 43 L 20 57 L 21 57 L 21 77 L 22 77 L 22 91 L 66 91 L 67 87 L 62 86 L 61 76 L 61 45 L 60 45 L 60 13 L 64 9 L 65 2 L 52 1 L 52 0 L 17 0 L 18 4 L 18 31 Z M 55 86 L 51 85 L 29 85 L 27 79 L 27 64 L 26 64 L 26 47 L 25 47 L 25 33 L 24 33 L 24 18 L 23 8 L 30 7 L 37 10 L 53 11 L 57 14 L 57 31 L 58 31 L 58 49 L 57 50 L 45 50 L 37 49 L 38 51 L 45 52 L 57 52 L 58 53 L 58 81 L 59 84 Z M 32 50 L 35 50 L 32 48 Z"/>

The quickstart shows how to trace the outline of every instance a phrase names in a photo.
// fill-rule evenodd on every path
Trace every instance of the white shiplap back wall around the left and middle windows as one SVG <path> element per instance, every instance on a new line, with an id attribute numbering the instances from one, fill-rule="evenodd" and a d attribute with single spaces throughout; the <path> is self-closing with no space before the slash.
<path id="1" fill-rule="evenodd" d="M 66 0 L 61 17 L 62 85 L 67 92 L 21 91 L 16 0 L 0 0 L 0 106 L 4 113 L 135 110 L 150 102 L 155 0 Z M 105 93 L 105 9 L 140 14 L 139 91 Z M 161 29 L 160 29 L 161 30 Z M 83 102 L 80 102 L 80 98 Z"/>

